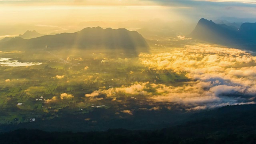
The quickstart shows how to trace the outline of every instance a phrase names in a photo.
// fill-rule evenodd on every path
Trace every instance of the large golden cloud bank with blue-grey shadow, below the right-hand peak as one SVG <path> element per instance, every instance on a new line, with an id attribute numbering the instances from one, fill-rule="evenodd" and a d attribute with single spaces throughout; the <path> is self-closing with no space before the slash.
<path id="1" fill-rule="evenodd" d="M 155 102 L 182 104 L 190 107 L 187 110 L 254 103 L 256 57 L 248 52 L 199 44 L 140 54 L 140 61 L 149 70 L 168 70 L 192 80 L 175 87 L 150 84 L 157 94 L 149 99 Z"/>

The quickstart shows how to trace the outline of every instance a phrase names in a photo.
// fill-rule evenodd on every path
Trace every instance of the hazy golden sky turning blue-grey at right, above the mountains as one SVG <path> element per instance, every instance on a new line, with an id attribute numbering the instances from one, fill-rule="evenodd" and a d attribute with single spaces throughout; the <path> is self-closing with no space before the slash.
<path id="1" fill-rule="evenodd" d="M 192 28 L 201 18 L 256 22 L 255 8 L 256 0 L 0 0 L 0 39 L 26 30 L 46 34 L 94 26 L 136 30 L 172 27 L 171 22 L 177 21 Z"/>

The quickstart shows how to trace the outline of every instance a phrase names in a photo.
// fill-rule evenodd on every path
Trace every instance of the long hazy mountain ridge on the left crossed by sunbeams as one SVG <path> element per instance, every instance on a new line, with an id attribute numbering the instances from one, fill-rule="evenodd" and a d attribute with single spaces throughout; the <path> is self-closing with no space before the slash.
<path id="1" fill-rule="evenodd" d="M 35 31 L 27 31 L 24 35 L 36 34 Z M 38 33 L 37 33 L 38 34 Z M 35 35 L 34 35 L 35 36 Z M 148 44 L 136 31 L 112 28 L 84 28 L 75 33 L 62 33 L 24 39 L 19 37 L 5 38 L 0 42 L 0 50 L 28 50 L 28 49 L 56 49 L 56 48 L 83 48 L 110 50 L 122 49 L 124 52 L 147 51 Z"/>

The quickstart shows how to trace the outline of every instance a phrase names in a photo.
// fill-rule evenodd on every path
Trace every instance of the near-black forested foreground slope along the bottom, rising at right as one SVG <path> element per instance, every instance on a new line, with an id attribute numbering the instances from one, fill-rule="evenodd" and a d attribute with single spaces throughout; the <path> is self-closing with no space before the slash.
<path id="1" fill-rule="evenodd" d="M 102 132 L 44 132 L 19 129 L 1 133 L 1 144 L 255 144 L 256 105 L 225 106 L 194 114 L 185 124 L 162 130 L 109 129 Z M 194 120 L 193 120 L 194 119 Z"/>

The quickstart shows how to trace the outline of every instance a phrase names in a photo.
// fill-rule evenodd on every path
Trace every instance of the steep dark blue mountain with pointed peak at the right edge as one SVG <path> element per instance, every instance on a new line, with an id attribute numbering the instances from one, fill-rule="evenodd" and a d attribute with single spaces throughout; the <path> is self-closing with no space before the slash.
<path id="1" fill-rule="evenodd" d="M 256 23 L 243 23 L 239 29 L 212 20 L 200 19 L 190 34 L 193 38 L 236 48 L 256 50 Z"/>

